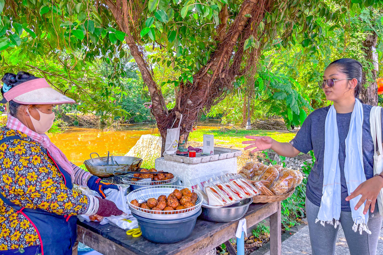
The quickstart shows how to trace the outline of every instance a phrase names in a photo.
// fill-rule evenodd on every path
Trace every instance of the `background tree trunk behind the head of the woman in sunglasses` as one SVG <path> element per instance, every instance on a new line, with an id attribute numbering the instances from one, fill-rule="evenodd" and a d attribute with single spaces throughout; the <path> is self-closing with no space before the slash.
<path id="1" fill-rule="evenodd" d="M 366 59 L 369 62 L 373 62 L 373 49 L 372 47 L 377 45 L 378 35 L 373 31 L 367 35 L 365 41 L 363 41 L 363 51 L 366 53 Z M 366 81 L 366 73 L 363 72 L 362 77 L 362 92 L 360 98 L 365 104 L 377 106 L 378 105 L 378 84 L 377 84 L 377 71 L 372 70 L 372 81 Z"/>

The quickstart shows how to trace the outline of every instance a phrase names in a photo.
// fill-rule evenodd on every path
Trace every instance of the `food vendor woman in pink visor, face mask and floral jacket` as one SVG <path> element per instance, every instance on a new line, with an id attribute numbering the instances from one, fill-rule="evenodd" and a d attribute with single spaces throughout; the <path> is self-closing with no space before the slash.
<path id="1" fill-rule="evenodd" d="M 71 255 L 77 215 L 122 214 L 109 200 L 73 191 L 73 183 L 104 198 L 118 187 L 69 162 L 45 134 L 53 106 L 72 99 L 26 72 L 6 73 L 2 82 L 9 113 L 0 129 L 0 254 Z"/>

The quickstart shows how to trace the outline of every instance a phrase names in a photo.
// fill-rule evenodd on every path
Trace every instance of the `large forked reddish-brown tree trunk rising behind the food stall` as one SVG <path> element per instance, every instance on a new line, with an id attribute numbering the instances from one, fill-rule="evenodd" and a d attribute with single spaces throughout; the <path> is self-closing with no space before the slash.
<path id="1" fill-rule="evenodd" d="M 218 34 L 216 36 L 216 40 L 219 43 L 216 46 L 215 52 L 210 55 L 210 60 L 207 64 L 193 75 L 192 84 L 189 82 L 187 84 L 180 84 L 176 97 L 176 107 L 168 111 L 161 87 L 153 80 L 149 65 L 138 47 L 138 42 L 134 41 L 131 33 L 127 1 L 104 1 L 116 18 L 121 30 L 127 34 L 125 40 L 138 64 L 143 81 L 148 86 L 153 105 L 152 113 L 157 121 L 157 126 L 163 140 L 163 151 L 166 131 L 177 118 L 176 113 L 177 115 L 179 115 L 178 113 L 183 114 L 180 134 L 185 134 L 188 137 L 199 111 L 203 108 L 209 110 L 212 105 L 224 98 L 226 93 L 223 88 L 231 88 L 236 76 L 243 75 L 247 70 L 255 68 L 254 63 L 259 50 L 262 48 L 262 44 L 258 49 L 252 49 L 252 54 L 247 59 L 246 67 L 244 70 L 241 70 L 243 44 L 250 35 L 257 35 L 256 29 L 253 29 L 253 27 L 258 27 L 265 11 L 269 10 L 273 2 L 273 0 L 244 0 L 241 9 L 228 29 L 226 29 L 228 20 L 226 5 L 222 8 L 219 14 L 221 24 L 217 27 Z M 178 122 L 175 125 L 178 125 Z"/>

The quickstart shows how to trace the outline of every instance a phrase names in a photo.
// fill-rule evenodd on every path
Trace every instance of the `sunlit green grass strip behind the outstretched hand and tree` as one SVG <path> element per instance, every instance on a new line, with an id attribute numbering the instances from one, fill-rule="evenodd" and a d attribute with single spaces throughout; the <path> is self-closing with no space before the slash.
<path id="1" fill-rule="evenodd" d="M 258 135 L 258 136 L 270 136 L 271 138 L 279 141 L 279 142 L 288 142 L 292 138 L 295 137 L 296 133 L 292 133 L 289 131 L 269 131 L 269 130 L 245 130 L 245 129 L 238 129 L 238 131 L 235 133 L 235 131 L 227 131 L 222 132 L 219 129 L 198 129 L 196 131 L 193 131 L 190 134 L 189 140 L 190 141 L 203 141 L 203 134 L 213 134 L 214 135 L 214 143 L 217 144 L 231 144 L 236 148 L 244 148 L 244 144 L 242 144 L 242 141 L 247 140 L 245 138 L 245 135 Z"/>

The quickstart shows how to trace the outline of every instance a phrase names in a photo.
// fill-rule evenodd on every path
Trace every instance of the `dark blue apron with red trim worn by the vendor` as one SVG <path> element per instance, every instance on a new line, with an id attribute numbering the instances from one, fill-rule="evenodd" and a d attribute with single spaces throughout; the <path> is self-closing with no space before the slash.
<path id="1" fill-rule="evenodd" d="M 0 144 L 9 140 L 20 139 L 18 135 L 8 136 L 0 140 Z M 72 189 L 73 185 L 69 173 L 57 165 L 49 153 L 43 150 L 54 162 L 65 180 L 65 186 Z M 72 246 L 77 239 L 77 217 L 57 215 L 41 209 L 28 209 L 15 205 L 0 194 L 0 199 L 12 207 L 18 213 L 23 214 L 36 229 L 40 239 L 40 250 L 42 255 L 72 255 Z M 28 248 L 23 248 L 24 250 Z M 36 249 L 36 248 L 31 248 Z M 18 251 L 18 249 L 8 250 Z M 4 253 L 5 252 L 5 253 Z M 1 251 L 6 255 L 6 251 Z M 14 252 L 12 252 L 14 254 Z"/>

